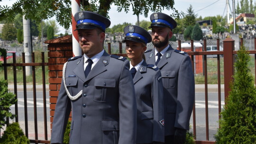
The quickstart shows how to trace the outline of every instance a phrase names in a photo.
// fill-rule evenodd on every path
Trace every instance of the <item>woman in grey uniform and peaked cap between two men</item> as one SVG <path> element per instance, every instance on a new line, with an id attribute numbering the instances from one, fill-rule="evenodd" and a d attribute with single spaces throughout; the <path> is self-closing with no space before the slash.
<path id="1" fill-rule="evenodd" d="M 160 70 L 143 60 L 146 44 L 152 38 L 143 28 L 124 28 L 126 53 L 130 59 L 137 100 L 136 144 L 164 144 L 164 93 Z"/>

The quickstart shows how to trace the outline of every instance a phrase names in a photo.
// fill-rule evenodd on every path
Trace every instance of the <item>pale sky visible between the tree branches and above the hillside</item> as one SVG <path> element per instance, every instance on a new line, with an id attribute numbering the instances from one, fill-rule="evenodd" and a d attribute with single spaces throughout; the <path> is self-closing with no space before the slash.
<path id="1" fill-rule="evenodd" d="M 0 5 L 8 5 L 11 6 L 15 1 L 17 0 L 2 0 L 0 1 Z M 232 1 L 229 0 L 229 6 L 232 9 Z M 187 13 L 187 9 L 192 5 L 192 9 L 195 14 L 197 14 L 198 17 L 208 17 L 208 16 L 223 16 L 225 17 L 227 15 L 227 8 L 226 8 L 226 2 L 227 0 L 174 0 L 174 8 L 177 9 L 179 12 L 183 11 L 184 13 Z M 235 1 L 235 5 L 237 5 L 237 0 Z M 229 10 L 230 11 L 230 10 Z M 172 14 L 172 10 L 163 10 L 162 11 L 165 14 Z M 148 17 L 145 18 L 143 15 L 139 16 L 139 20 L 147 20 L 150 21 L 150 15 L 153 12 L 148 13 Z M 117 6 L 112 5 L 111 9 L 109 11 L 110 21 L 111 25 L 110 27 L 113 27 L 117 24 L 122 24 L 124 22 L 131 23 L 135 25 L 137 22 L 137 16 L 133 15 L 133 12 L 130 8 L 130 11 L 128 13 L 125 13 L 124 11 L 118 12 Z M 53 18 L 54 19 L 54 18 Z M 59 27 L 60 32 L 59 33 L 65 33 L 65 29 L 63 27 Z M 71 33 L 71 29 L 69 30 L 69 33 Z"/>

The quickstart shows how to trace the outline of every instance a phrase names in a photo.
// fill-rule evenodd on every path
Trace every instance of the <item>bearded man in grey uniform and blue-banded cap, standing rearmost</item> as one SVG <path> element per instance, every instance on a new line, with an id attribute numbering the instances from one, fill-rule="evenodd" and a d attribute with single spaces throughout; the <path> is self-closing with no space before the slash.
<path id="1" fill-rule="evenodd" d="M 195 97 L 191 58 L 169 45 L 176 21 L 164 13 L 150 16 L 152 43 L 155 49 L 145 52 L 146 63 L 161 71 L 165 101 L 165 144 L 183 144 Z"/>

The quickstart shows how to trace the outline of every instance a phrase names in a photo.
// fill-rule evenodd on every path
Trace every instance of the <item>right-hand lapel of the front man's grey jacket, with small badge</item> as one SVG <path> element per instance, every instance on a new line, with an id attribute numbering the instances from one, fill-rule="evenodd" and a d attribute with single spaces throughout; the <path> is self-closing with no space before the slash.
<path id="1" fill-rule="evenodd" d="M 105 66 L 109 64 L 110 62 L 110 55 L 107 54 L 105 51 L 103 55 L 101 56 L 100 60 L 94 65 L 94 67 L 91 69 L 91 72 L 88 74 L 85 81 L 90 80 L 91 78 L 97 76 L 98 74 L 107 71 Z"/>

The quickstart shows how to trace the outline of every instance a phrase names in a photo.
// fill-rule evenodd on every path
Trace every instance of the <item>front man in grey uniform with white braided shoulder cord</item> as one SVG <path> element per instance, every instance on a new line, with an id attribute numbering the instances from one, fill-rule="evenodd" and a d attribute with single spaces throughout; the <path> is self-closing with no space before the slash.
<path id="1" fill-rule="evenodd" d="M 84 55 L 64 64 L 51 144 L 62 144 L 72 109 L 69 144 L 135 144 L 137 107 L 129 61 L 103 49 L 110 20 L 90 11 L 74 15 Z"/>

